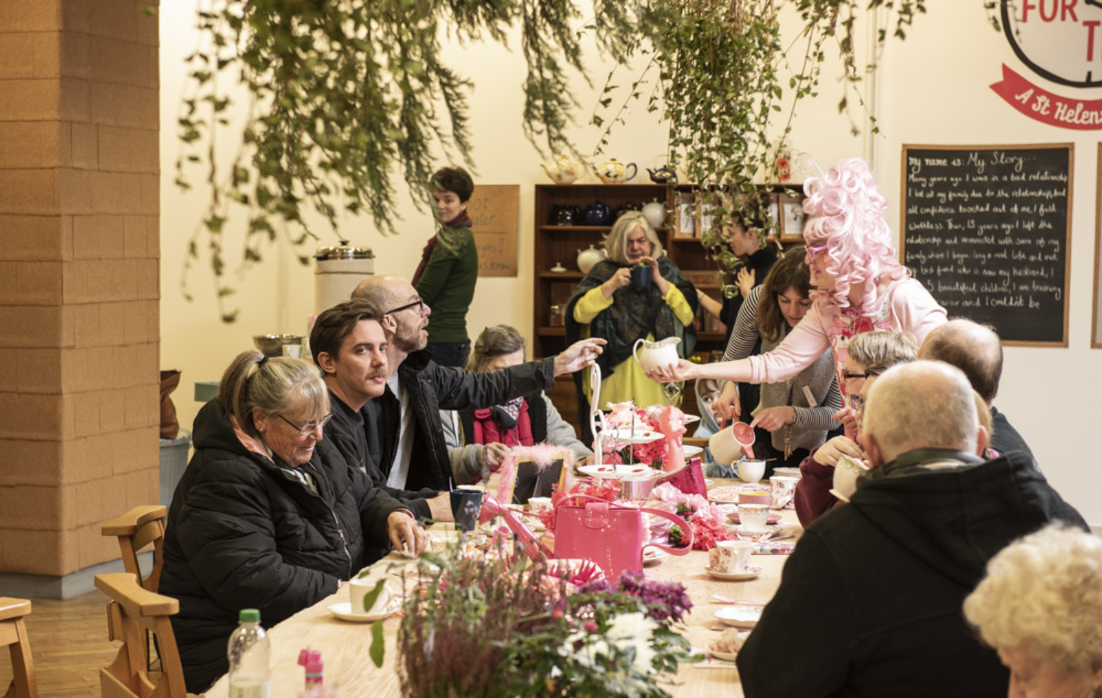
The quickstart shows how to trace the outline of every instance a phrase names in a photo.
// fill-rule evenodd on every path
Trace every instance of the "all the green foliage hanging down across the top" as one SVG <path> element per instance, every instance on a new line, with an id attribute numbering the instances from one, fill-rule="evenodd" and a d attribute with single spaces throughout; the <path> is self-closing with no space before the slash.
<path id="1" fill-rule="evenodd" d="M 788 85 L 793 103 L 814 94 L 828 39 L 855 81 L 856 2 L 781 1 L 806 22 L 802 68 Z M 900 36 L 925 11 L 923 0 L 871 0 L 866 11 L 882 7 L 895 12 Z M 777 68 L 791 51 L 780 46 L 774 0 L 593 0 L 592 11 L 586 30 L 612 61 L 650 56 L 658 78 L 649 108 L 669 121 L 671 152 L 683 154 L 691 178 L 714 185 L 715 212 L 760 207 L 752 177 L 768 165 L 766 129 L 785 94 Z M 368 212 L 380 231 L 395 232 L 396 179 L 419 206 L 431 200 L 436 150 L 474 167 L 473 86 L 442 61 L 442 36 L 506 44 L 517 28 L 527 65 L 521 128 L 541 153 L 575 150 L 565 129 L 579 107 L 572 86 L 585 78 L 577 0 L 199 0 L 197 17 L 199 47 L 185 58 L 191 80 L 179 118 L 176 184 L 187 189 L 202 172 L 212 194 L 190 240 L 184 285 L 186 295 L 191 264 L 209 254 L 226 321 L 237 316 L 226 305 L 234 293 L 224 244 L 231 214 L 248 219 L 244 270 L 280 235 L 300 249 L 316 239 L 306 209 L 334 230 L 343 209 Z M 635 80 L 628 99 L 640 98 L 645 83 Z M 231 101 L 239 85 L 247 105 Z M 602 108 L 615 91 L 609 81 Z M 230 127 L 230 114 L 235 128 L 237 120 L 242 126 L 234 152 L 224 154 L 218 131 Z M 623 120 L 623 108 L 614 118 L 593 116 L 606 129 Z M 717 236 L 705 244 L 722 259 Z"/>

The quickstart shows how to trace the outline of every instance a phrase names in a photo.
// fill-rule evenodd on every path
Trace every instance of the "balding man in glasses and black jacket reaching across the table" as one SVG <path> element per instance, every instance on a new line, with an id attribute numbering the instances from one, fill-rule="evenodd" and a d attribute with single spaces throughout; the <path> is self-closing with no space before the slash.
<path id="1" fill-rule="evenodd" d="M 441 434 L 440 410 L 489 407 L 548 390 L 554 377 L 591 366 L 603 339 L 583 339 L 562 353 L 494 373 L 466 373 L 436 366 L 423 351 L 432 309 L 401 276 L 371 276 L 353 298 L 385 308 L 389 377 L 387 390 L 367 403 L 371 458 L 389 487 L 447 489 L 452 466 Z"/>

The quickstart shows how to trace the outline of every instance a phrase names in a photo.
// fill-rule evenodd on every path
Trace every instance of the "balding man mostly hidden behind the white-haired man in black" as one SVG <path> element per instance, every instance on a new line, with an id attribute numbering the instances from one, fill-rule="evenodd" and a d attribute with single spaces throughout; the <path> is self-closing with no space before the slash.
<path id="1" fill-rule="evenodd" d="M 951 319 L 930 330 L 918 349 L 918 358 L 944 361 L 963 371 L 991 410 L 991 448 L 997 454 L 1023 450 L 1037 465 L 1025 439 L 992 404 L 1003 375 L 1003 343 L 993 327 L 964 318 Z"/>

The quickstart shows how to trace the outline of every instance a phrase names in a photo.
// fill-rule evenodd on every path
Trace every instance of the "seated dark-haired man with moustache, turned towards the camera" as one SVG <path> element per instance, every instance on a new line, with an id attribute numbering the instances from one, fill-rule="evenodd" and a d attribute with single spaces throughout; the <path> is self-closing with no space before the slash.
<path id="1" fill-rule="evenodd" d="M 386 487 L 386 476 L 370 458 L 364 406 L 387 388 L 387 338 L 381 318 L 379 309 L 367 301 L 348 301 L 325 310 L 314 323 L 310 347 L 329 390 L 333 413 L 324 427 L 325 438 L 349 466 L 367 472 L 375 487 L 403 502 L 418 519 L 452 521 L 447 492 Z"/>

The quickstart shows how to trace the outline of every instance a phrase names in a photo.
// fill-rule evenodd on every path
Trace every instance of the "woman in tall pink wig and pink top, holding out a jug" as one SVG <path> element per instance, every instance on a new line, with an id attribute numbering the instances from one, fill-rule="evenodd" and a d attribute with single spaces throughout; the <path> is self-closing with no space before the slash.
<path id="1" fill-rule="evenodd" d="M 769 353 L 699 366 L 682 360 L 648 371 L 649 378 L 660 383 L 698 378 L 778 383 L 833 349 L 838 383 L 845 385 L 845 349 L 856 335 L 874 329 L 907 331 L 921 343 L 927 332 L 946 321 L 946 309 L 896 260 L 884 220 L 887 200 L 864 161 L 843 160 L 824 176 L 809 179 L 803 190 L 808 195 L 804 262 L 815 290 L 814 303 L 800 324 Z M 733 392 L 725 388 L 713 403 L 721 418 L 731 414 Z"/>

